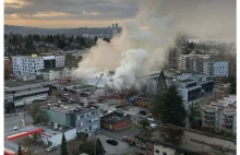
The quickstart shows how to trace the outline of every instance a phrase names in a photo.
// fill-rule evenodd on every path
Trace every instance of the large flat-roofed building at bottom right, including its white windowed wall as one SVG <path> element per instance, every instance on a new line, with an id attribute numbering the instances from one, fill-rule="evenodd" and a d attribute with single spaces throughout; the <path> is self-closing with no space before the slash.
<path id="1" fill-rule="evenodd" d="M 170 124 L 147 135 L 139 134 L 135 140 L 137 155 L 230 155 L 237 152 L 235 141 Z"/>

